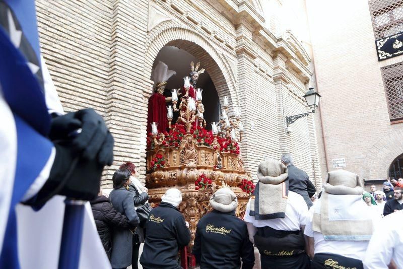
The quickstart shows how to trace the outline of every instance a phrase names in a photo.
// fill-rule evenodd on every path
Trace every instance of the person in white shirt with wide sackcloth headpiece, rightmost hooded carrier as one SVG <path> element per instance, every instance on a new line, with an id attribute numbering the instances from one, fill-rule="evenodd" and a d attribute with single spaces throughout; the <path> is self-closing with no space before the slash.
<path id="1" fill-rule="evenodd" d="M 340 267 L 363 268 L 373 220 L 381 216 L 363 203 L 362 182 L 354 173 L 330 171 L 323 188 L 304 232 L 314 255 L 312 268 L 325 268 L 330 259 Z"/>

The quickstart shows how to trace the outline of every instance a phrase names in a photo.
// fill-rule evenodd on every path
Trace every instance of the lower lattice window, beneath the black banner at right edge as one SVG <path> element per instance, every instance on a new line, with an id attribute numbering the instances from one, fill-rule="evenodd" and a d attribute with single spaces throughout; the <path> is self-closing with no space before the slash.
<path id="1" fill-rule="evenodd" d="M 381 68 L 390 121 L 403 119 L 403 62 Z"/>

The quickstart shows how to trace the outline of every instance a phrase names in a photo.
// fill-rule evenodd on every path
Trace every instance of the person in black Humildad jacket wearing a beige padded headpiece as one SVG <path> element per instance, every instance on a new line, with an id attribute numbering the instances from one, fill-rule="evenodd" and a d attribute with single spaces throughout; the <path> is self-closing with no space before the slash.
<path id="1" fill-rule="evenodd" d="M 193 255 L 200 268 L 251 269 L 255 263 L 246 222 L 235 216 L 238 199 L 229 188 L 217 190 L 210 198 L 213 211 L 200 219 Z"/>

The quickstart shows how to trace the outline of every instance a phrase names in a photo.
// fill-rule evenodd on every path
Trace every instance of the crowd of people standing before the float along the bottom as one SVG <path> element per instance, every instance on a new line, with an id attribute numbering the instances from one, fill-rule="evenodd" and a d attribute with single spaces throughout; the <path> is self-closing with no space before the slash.
<path id="1" fill-rule="evenodd" d="M 100 193 L 91 201 L 112 267 L 137 268 L 139 246 L 144 243 L 143 268 L 181 268 L 178 252 L 191 240 L 189 225 L 178 210 L 182 193 L 168 189 L 156 208 L 139 211 L 149 206 L 149 196 L 138 176 L 134 164 L 122 164 L 113 175 L 109 199 Z M 200 268 L 253 268 L 254 246 L 261 268 L 400 268 L 403 264 L 398 251 L 403 240 L 395 239 L 401 237 L 401 228 L 385 231 L 386 223 L 403 220 L 403 211 L 398 212 L 403 204 L 402 179 L 384 182 L 383 191 L 372 185 L 366 192 L 358 175 L 331 171 L 313 203 L 315 187 L 289 153 L 281 162 L 262 162 L 257 179 L 243 220 L 235 216 L 238 200 L 229 187 L 211 196 L 213 211 L 197 223 L 192 248 Z"/>

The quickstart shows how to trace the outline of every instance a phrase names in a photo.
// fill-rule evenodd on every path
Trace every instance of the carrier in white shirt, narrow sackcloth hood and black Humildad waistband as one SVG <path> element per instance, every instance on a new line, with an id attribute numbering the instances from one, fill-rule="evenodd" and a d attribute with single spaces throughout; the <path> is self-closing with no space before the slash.
<path id="1" fill-rule="evenodd" d="M 288 190 L 287 168 L 279 161 L 259 164 L 258 182 L 246 206 L 249 240 L 260 252 L 262 268 L 309 268 L 303 229 L 304 198 Z"/>

